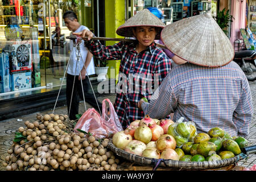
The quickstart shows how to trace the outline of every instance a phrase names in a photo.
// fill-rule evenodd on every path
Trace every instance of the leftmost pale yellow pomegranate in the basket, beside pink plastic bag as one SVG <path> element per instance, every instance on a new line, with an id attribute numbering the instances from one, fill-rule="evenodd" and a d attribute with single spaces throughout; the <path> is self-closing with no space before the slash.
<path id="1" fill-rule="evenodd" d="M 121 148 L 122 150 L 127 146 L 129 142 L 133 140 L 133 137 L 129 134 L 125 134 L 124 131 L 119 131 L 113 135 L 113 144 L 115 147 Z"/>

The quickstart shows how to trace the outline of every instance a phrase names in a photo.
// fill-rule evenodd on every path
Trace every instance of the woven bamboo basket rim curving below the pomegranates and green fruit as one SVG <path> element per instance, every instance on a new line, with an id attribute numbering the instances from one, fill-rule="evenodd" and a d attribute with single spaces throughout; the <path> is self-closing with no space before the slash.
<path id="1" fill-rule="evenodd" d="M 121 156 L 123 159 L 130 160 L 136 164 L 142 166 L 156 166 L 158 167 L 169 167 L 169 168 L 188 168 L 188 169 L 210 169 L 210 168 L 219 168 L 224 166 L 229 166 L 230 164 L 237 163 L 239 160 L 246 158 L 246 155 L 241 153 L 239 155 L 234 156 L 229 159 L 222 159 L 216 161 L 204 161 L 204 162 L 183 162 L 179 160 L 171 160 L 171 159 L 151 159 L 142 157 L 139 155 L 131 154 L 120 148 L 117 148 L 112 143 L 112 140 L 109 141 L 108 148 L 112 150 L 118 156 Z"/>

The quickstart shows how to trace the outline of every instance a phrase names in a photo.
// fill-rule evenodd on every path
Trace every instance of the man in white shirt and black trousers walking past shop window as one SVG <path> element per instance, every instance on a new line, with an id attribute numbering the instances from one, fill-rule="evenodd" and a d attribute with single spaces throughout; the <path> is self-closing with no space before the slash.
<path id="1" fill-rule="evenodd" d="M 63 15 L 65 25 L 72 32 L 80 32 L 84 29 L 89 30 L 87 27 L 80 25 L 77 20 L 77 16 L 73 11 L 67 11 Z M 72 34 L 71 32 L 71 34 Z M 70 41 L 69 48 L 72 50 L 73 41 Z M 88 102 L 96 110 L 102 109 L 102 104 L 94 97 L 93 93 L 90 93 L 89 75 L 95 74 L 93 55 L 88 51 L 88 48 L 84 47 L 84 40 L 80 44 L 80 59 L 77 59 L 77 49 L 74 47 L 70 54 L 70 60 L 67 70 L 67 86 L 66 86 L 66 97 L 68 106 L 69 119 L 76 119 L 76 114 L 79 114 L 79 101 L 83 99 L 82 89 L 84 89 L 85 101 Z M 81 72 L 81 77 L 80 77 Z M 88 76 L 86 76 L 88 75 Z M 75 84 L 73 88 L 73 82 L 75 77 Z M 82 86 L 81 81 L 82 79 Z M 73 88 L 73 96 L 72 96 Z M 71 102 L 72 97 L 72 102 Z M 70 105 L 71 104 L 71 105 Z M 100 108 L 98 108 L 98 106 Z M 70 112 L 69 112 L 70 109 Z"/>

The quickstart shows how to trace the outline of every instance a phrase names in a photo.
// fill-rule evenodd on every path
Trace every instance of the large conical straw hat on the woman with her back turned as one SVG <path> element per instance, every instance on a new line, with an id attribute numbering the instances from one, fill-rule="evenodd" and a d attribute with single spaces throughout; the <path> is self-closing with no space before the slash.
<path id="1" fill-rule="evenodd" d="M 230 40 L 209 14 L 168 24 L 162 30 L 161 39 L 178 57 L 204 67 L 221 67 L 234 57 Z"/>

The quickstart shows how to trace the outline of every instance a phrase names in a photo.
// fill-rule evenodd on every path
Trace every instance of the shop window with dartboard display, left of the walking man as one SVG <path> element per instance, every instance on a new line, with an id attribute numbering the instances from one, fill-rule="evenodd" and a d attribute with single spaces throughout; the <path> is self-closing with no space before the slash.
<path id="1" fill-rule="evenodd" d="M 67 10 L 81 23 L 81 1 L 0 0 L 0 100 L 60 88 L 70 51 Z"/>

